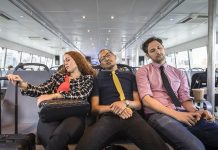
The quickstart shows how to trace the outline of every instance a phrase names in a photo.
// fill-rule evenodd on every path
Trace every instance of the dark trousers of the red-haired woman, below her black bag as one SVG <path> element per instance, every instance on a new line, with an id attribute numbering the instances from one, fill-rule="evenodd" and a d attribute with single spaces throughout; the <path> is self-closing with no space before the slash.
<path id="1" fill-rule="evenodd" d="M 78 141 L 84 129 L 84 118 L 79 117 L 49 123 L 39 120 L 37 134 L 46 150 L 68 150 L 68 144 Z"/>

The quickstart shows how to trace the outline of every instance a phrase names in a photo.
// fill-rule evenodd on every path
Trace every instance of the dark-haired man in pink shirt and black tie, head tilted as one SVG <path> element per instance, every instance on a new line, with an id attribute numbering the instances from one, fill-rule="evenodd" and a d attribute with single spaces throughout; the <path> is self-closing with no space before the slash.
<path id="1" fill-rule="evenodd" d="M 217 149 L 218 124 L 210 112 L 193 106 L 186 75 L 166 64 L 162 40 L 151 37 L 143 43 L 142 49 L 152 63 L 137 71 L 136 80 L 150 125 L 176 150 Z M 181 107 L 166 90 L 160 68 Z"/>

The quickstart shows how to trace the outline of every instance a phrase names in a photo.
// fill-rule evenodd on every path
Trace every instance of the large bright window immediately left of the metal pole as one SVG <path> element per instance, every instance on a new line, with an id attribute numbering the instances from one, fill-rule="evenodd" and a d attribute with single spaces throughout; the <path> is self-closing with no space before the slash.
<path id="1" fill-rule="evenodd" d="M 207 48 L 200 47 L 190 51 L 191 68 L 207 68 Z"/>

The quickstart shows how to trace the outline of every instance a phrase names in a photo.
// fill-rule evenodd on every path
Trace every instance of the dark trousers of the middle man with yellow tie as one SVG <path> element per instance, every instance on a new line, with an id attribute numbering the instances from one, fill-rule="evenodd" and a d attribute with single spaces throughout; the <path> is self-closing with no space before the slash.
<path id="1" fill-rule="evenodd" d="M 142 150 L 166 150 L 160 136 L 136 112 L 129 119 L 106 113 L 80 139 L 77 150 L 101 150 L 117 133 L 125 135 Z"/>

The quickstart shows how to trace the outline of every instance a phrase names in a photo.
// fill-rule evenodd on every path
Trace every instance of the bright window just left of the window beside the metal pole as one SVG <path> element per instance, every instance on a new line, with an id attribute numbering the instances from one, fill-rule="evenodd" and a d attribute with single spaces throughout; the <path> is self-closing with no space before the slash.
<path id="1" fill-rule="evenodd" d="M 176 66 L 177 68 L 189 69 L 188 51 L 176 53 Z"/>

